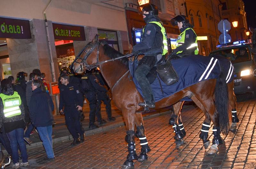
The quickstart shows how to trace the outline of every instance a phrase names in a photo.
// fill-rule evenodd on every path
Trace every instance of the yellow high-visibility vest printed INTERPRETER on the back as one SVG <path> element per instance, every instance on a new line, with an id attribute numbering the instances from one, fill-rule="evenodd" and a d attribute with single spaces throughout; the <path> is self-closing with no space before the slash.
<path id="1" fill-rule="evenodd" d="M 21 99 L 18 92 L 14 92 L 11 96 L 0 93 L 0 97 L 4 104 L 5 117 L 13 117 L 21 114 Z"/>

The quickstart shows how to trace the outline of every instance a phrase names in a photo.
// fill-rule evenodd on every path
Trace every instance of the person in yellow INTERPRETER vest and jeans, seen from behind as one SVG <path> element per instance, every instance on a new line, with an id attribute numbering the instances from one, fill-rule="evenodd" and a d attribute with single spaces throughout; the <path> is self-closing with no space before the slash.
<path id="1" fill-rule="evenodd" d="M 5 133 L 11 143 L 12 168 L 28 166 L 28 154 L 24 137 L 25 128 L 25 110 L 22 99 L 18 92 L 12 88 L 9 79 L 1 81 L 0 93 L 0 129 L 4 126 Z M 21 152 L 22 163 L 19 163 L 19 152 Z"/>

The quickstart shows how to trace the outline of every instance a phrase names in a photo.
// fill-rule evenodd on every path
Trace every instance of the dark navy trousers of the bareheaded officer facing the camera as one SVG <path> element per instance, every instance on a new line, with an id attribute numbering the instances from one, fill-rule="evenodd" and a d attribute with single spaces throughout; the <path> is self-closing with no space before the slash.
<path id="1" fill-rule="evenodd" d="M 74 107 L 65 106 L 65 122 L 69 133 L 76 139 L 79 138 L 78 134 L 80 136 L 84 134 L 84 128 L 79 119 L 79 112 Z"/>

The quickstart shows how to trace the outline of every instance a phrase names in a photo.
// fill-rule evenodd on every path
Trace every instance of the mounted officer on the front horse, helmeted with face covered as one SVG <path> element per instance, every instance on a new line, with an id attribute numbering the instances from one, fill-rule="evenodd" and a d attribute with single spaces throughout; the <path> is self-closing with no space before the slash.
<path id="1" fill-rule="evenodd" d="M 145 56 L 139 61 L 138 67 L 135 70 L 135 77 L 140 84 L 145 102 L 139 103 L 143 107 L 155 107 L 155 101 L 152 95 L 152 90 L 147 79 L 148 72 L 153 68 L 157 61 L 167 53 L 166 32 L 158 17 L 158 8 L 154 4 L 143 5 L 142 11 L 143 20 L 146 22 L 141 35 L 142 41 L 133 47 L 133 53 Z"/>

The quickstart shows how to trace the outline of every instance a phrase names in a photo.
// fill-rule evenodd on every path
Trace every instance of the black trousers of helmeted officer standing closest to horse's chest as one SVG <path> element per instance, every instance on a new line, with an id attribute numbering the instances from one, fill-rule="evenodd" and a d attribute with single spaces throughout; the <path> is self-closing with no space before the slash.
<path id="1" fill-rule="evenodd" d="M 99 91 L 97 93 L 97 99 L 99 104 L 99 106 L 97 106 L 97 112 L 100 112 L 101 101 L 103 101 L 103 103 L 106 105 L 106 112 L 107 112 L 108 118 L 112 117 L 111 104 L 110 104 L 111 100 L 109 99 L 108 94 L 106 92 Z"/>

